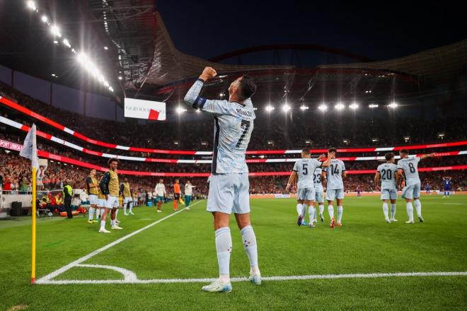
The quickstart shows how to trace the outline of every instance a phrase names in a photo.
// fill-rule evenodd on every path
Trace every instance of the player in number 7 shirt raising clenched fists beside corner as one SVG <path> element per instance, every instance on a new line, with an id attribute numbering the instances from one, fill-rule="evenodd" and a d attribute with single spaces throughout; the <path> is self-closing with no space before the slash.
<path id="1" fill-rule="evenodd" d="M 202 287 L 203 291 L 211 293 L 232 291 L 229 271 L 232 250 L 229 219 L 232 211 L 250 261 L 250 281 L 256 285 L 261 283 L 256 237 L 250 225 L 250 183 L 245 160 L 255 119 L 250 97 L 255 93 L 256 85 L 250 76 L 241 76 L 229 86 L 229 101 L 200 97 L 204 82 L 216 75 L 214 69 L 206 67 L 185 95 L 187 105 L 214 116 L 214 153 L 207 211 L 214 216 L 219 278 Z"/>

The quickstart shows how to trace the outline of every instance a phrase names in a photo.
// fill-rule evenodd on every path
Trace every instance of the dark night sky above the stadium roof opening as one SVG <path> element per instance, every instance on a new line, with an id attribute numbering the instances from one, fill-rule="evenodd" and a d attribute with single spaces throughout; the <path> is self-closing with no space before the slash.
<path id="1" fill-rule="evenodd" d="M 209 59 L 255 45 L 325 45 L 375 60 L 467 38 L 461 1 L 193 1 L 156 7 L 180 51 Z"/>

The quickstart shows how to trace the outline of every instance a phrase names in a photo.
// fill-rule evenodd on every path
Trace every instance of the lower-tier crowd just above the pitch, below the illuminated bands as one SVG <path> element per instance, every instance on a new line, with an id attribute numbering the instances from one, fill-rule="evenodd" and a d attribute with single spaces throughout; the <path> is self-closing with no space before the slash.
<path id="1" fill-rule="evenodd" d="M 461 157 L 463 160 L 466 160 L 465 156 Z M 452 159 L 452 160 L 451 160 Z M 456 164 L 455 158 L 449 158 L 449 162 Z M 429 163 L 429 160 L 426 160 L 426 163 L 422 163 L 420 167 L 427 166 L 425 164 Z M 371 169 L 376 168 L 378 163 L 376 161 L 369 161 L 370 163 L 374 162 L 374 165 Z M 465 161 L 464 161 L 465 163 Z M 445 163 L 442 163 L 443 165 Z M 263 166 L 264 165 L 264 166 Z M 282 164 L 282 171 L 292 170 L 292 163 Z M 273 166 L 273 165 L 272 165 Z M 265 164 L 261 164 L 261 171 L 270 171 L 267 169 Z M 5 153 L 0 150 L 0 175 L 3 177 L 3 189 L 4 191 L 13 191 L 13 193 L 27 193 L 31 189 L 31 172 L 30 172 L 30 163 L 29 160 L 22 158 L 18 155 L 17 152 L 11 151 L 10 153 Z M 286 170 L 287 168 L 287 170 Z M 253 168 L 250 165 L 250 170 L 253 171 Z M 42 178 L 43 189 L 52 190 L 52 189 L 62 189 L 64 181 L 69 182 L 72 187 L 75 189 L 85 188 L 85 179 L 88 176 L 89 170 L 86 168 L 76 167 L 74 165 L 67 165 L 66 163 L 57 163 L 48 161 L 47 169 L 45 170 L 44 176 Z M 100 174 L 100 173 L 98 173 Z M 452 182 L 454 184 L 454 189 L 466 189 L 467 179 L 466 172 L 464 170 L 454 170 L 454 171 L 436 171 L 436 172 L 420 172 L 420 180 L 422 183 L 429 182 L 432 189 L 437 189 L 441 187 L 442 177 L 443 176 L 452 177 Z M 129 183 L 132 186 L 132 189 L 136 189 L 137 192 L 153 192 L 154 186 L 158 182 L 160 177 L 145 177 L 145 176 L 132 176 L 125 175 L 129 179 Z M 347 175 L 345 178 L 345 189 L 346 191 L 354 192 L 359 186 L 363 191 L 374 191 L 374 175 L 373 174 L 364 174 L 364 175 Z M 173 182 L 175 182 L 175 177 L 165 177 L 163 178 L 164 183 L 166 184 L 166 189 L 168 194 L 173 193 Z M 195 187 L 195 195 L 207 195 L 208 192 L 208 183 L 206 177 L 183 177 L 180 178 L 180 183 L 183 185 L 187 180 L 191 180 L 192 184 Z M 287 184 L 288 176 L 260 176 L 260 177 L 250 177 L 250 193 L 251 194 L 278 194 L 284 193 L 285 185 Z M 183 189 L 183 187 L 182 187 Z"/>

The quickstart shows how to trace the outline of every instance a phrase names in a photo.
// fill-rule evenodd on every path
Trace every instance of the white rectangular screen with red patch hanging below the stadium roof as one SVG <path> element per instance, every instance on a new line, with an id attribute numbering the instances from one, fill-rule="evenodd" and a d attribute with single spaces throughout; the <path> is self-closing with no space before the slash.
<path id="1" fill-rule="evenodd" d="M 125 117 L 165 121 L 166 103 L 125 98 Z"/>

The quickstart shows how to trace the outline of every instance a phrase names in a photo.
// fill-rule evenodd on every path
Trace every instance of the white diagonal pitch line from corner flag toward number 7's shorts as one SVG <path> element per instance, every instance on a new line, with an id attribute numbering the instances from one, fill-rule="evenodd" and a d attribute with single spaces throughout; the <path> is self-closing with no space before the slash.
<path id="1" fill-rule="evenodd" d="M 196 204 L 199 204 L 202 201 L 204 201 L 204 200 L 197 201 L 195 204 L 190 205 L 190 207 L 195 206 Z M 185 207 L 185 209 L 186 209 L 186 207 Z M 141 229 L 133 231 L 132 233 L 129 233 L 129 235 L 125 235 L 124 237 L 120 237 L 120 239 L 115 240 L 112 243 L 110 243 L 108 245 L 105 245 L 104 247 L 100 247 L 100 249 L 95 250 L 94 252 L 91 252 L 91 253 L 87 254 L 86 256 L 83 256 L 83 257 L 81 257 L 79 259 L 76 259 L 74 262 L 71 262 L 71 263 L 67 264 L 66 266 L 62 266 L 62 268 L 60 268 L 58 270 L 55 270 L 55 271 L 51 272 L 50 274 L 47 274 L 46 276 L 42 276 L 42 278 L 39 278 L 36 281 L 36 283 L 43 283 L 44 281 L 51 281 L 52 278 L 54 278 L 56 276 L 59 276 L 59 274 L 62 274 L 65 271 L 68 271 L 69 269 L 73 268 L 74 266 L 76 266 L 78 264 L 81 264 L 81 262 L 86 262 L 86 260 L 96 256 L 97 254 L 100 254 L 101 252 L 103 252 L 105 250 L 108 250 L 110 247 L 113 247 L 113 246 L 115 246 L 115 245 L 129 239 L 133 235 L 137 235 L 138 233 L 141 233 L 142 231 L 151 228 L 153 225 L 157 225 L 158 223 L 161 223 L 162 221 L 165 221 L 166 219 L 177 215 L 178 213 L 184 211 L 185 209 L 180 209 L 180 211 L 176 211 L 175 213 L 171 213 L 170 215 L 168 215 L 168 216 L 166 216 L 164 218 L 161 218 L 158 221 L 155 221 L 154 223 L 150 223 L 149 225 L 146 225 L 146 227 L 143 227 Z"/>

